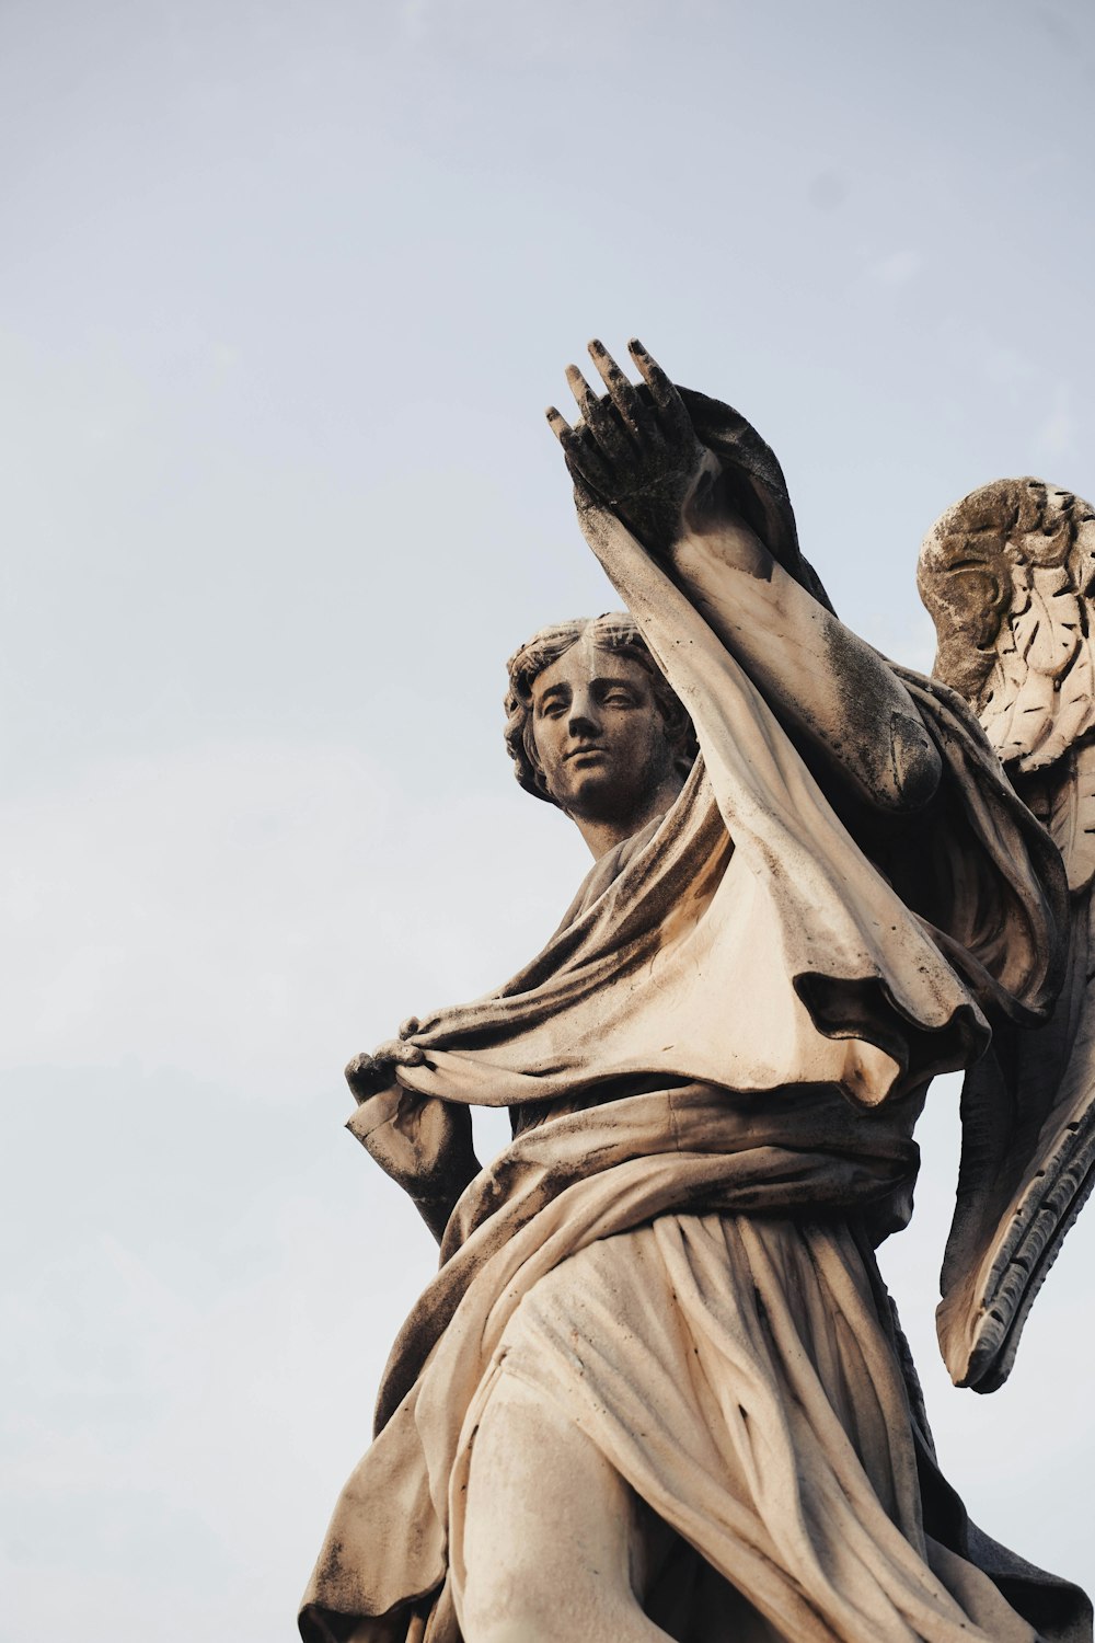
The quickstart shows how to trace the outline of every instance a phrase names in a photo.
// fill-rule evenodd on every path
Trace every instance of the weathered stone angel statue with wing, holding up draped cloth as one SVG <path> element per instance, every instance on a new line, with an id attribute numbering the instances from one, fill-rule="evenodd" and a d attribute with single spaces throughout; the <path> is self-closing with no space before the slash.
<path id="1" fill-rule="evenodd" d="M 548 419 L 627 614 L 517 651 L 506 741 L 594 863 L 512 981 L 346 1070 L 440 1267 L 300 1635 L 1090 1643 L 944 1482 L 875 1265 L 937 1073 L 957 1378 L 1003 1378 L 1085 1188 L 1090 509 L 944 516 L 923 679 L 836 618 L 737 411 L 589 352 Z M 476 1104 L 512 1119 L 484 1168 Z"/>

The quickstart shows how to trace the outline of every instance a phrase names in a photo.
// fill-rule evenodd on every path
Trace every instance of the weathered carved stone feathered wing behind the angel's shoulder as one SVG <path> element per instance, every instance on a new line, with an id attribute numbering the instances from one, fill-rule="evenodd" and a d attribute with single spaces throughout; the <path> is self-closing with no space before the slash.
<path id="1" fill-rule="evenodd" d="M 934 526 L 918 580 L 936 677 L 977 713 L 1070 891 L 1051 1019 L 995 1024 L 962 1089 L 939 1342 L 959 1385 L 993 1392 L 1095 1186 L 1095 509 L 1041 480 L 998 480 Z"/>

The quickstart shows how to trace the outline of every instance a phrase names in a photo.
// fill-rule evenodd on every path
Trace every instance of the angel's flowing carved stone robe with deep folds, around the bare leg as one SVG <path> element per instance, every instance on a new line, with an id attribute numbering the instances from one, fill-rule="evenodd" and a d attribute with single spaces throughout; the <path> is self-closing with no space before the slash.
<path id="1" fill-rule="evenodd" d="M 860 826 L 701 590 L 606 511 L 584 527 L 701 757 L 520 974 L 417 1024 L 402 1084 L 537 1122 L 451 1216 L 302 1636 L 458 1643 L 474 1433 L 509 1374 L 678 1536 L 648 1610 L 671 1636 L 1090 1640 L 1084 1595 L 939 1477 L 872 1254 L 909 1211 L 929 1079 L 1052 999 L 1052 846 L 964 705 L 909 674 L 941 795 L 901 835 Z"/>

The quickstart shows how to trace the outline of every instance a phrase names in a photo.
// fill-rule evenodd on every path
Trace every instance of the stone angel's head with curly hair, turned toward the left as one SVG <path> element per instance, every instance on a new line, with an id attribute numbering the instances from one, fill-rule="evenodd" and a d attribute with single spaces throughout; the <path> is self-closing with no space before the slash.
<path id="1" fill-rule="evenodd" d="M 578 822 L 642 825 L 698 752 L 688 713 L 625 614 L 535 633 L 509 659 L 506 720 L 520 785 Z"/>

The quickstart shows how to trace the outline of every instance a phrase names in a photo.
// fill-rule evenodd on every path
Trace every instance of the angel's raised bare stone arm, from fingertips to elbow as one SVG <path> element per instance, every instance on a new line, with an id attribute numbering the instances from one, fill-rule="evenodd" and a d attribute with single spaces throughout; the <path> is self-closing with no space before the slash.
<path id="1" fill-rule="evenodd" d="M 566 370 L 581 421 L 548 422 L 583 499 L 601 503 L 655 554 L 781 718 L 872 807 L 921 808 L 939 752 L 893 670 L 773 559 L 734 509 L 717 457 L 699 444 L 673 383 L 639 342 L 645 391 L 589 343 L 607 389 Z"/>

